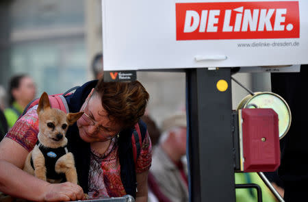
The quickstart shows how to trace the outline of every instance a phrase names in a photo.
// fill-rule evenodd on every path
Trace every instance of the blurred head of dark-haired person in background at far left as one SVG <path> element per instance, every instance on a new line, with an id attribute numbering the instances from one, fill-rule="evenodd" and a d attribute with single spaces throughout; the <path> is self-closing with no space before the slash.
<path id="1" fill-rule="evenodd" d="M 16 75 L 9 82 L 9 105 L 14 101 L 25 108 L 36 97 L 36 85 L 28 75 Z"/>

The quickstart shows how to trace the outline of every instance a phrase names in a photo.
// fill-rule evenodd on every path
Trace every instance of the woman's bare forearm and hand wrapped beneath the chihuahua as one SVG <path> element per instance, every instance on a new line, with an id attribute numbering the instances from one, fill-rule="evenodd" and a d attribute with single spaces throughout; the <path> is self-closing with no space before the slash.
<path id="1" fill-rule="evenodd" d="M 77 184 L 50 184 L 0 159 L 0 191 L 29 201 L 76 201 L 84 199 Z"/>

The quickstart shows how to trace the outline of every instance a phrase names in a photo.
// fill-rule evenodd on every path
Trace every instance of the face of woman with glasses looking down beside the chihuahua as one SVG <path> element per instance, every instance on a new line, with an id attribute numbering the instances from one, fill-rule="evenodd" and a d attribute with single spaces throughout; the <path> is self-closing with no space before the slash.
<path id="1" fill-rule="evenodd" d="M 121 127 L 110 121 L 101 105 L 101 98 L 96 93 L 91 94 L 81 107 L 84 114 L 77 120 L 79 136 L 85 142 L 105 142 L 116 136 Z"/>

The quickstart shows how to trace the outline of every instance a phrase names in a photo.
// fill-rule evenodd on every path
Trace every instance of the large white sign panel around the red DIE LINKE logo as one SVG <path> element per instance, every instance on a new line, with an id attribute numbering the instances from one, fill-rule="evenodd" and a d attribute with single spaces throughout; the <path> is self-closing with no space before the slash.
<path id="1" fill-rule="evenodd" d="M 294 1 L 294 3 L 298 2 L 299 4 L 299 38 L 177 40 L 176 3 L 185 2 L 204 4 L 223 3 L 226 0 L 103 0 L 104 70 L 308 64 L 308 1 Z M 241 2 L 257 1 L 236 0 L 228 2 L 238 2 L 240 6 Z M 268 2 L 274 3 L 275 1 Z M 279 2 L 283 3 L 283 1 Z M 265 14 L 270 9 L 266 8 Z M 238 9 L 238 11 L 234 9 L 231 13 L 233 17 L 235 17 L 235 14 L 241 14 L 239 12 L 241 9 Z M 260 10 L 259 16 L 261 15 Z M 277 9 L 275 13 L 277 13 L 276 11 Z M 286 31 L 290 27 L 283 24 L 284 17 L 290 18 L 288 15 L 290 9 L 286 8 L 286 14 L 284 14 L 284 10 L 279 11 L 282 14 L 277 18 L 280 18 L 282 22 L 278 23 L 276 28 L 282 29 L 283 27 L 281 28 L 279 25 L 283 25 L 285 33 L 294 33 L 292 32 L 294 29 Z M 251 13 L 253 14 L 253 8 Z M 242 14 L 244 13 L 242 12 Z M 218 21 L 226 21 L 222 16 L 224 14 L 219 16 Z M 274 29 L 274 23 L 271 26 Z M 215 24 L 209 25 L 209 27 L 215 29 Z M 238 33 L 243 34 L 243 31 Z M 224 33 L 225 36 L 227 36 L 226 33 Z M 265 44 L 268 44 L 268 46 L 264 46 Z"/>

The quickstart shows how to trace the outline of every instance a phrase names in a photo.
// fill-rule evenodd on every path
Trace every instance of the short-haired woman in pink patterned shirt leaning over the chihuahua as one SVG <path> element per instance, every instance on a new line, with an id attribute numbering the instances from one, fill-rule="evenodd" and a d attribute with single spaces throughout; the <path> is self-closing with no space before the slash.
<path id="1" fill-rule="evenodd" d="M 36 107 L 28 110 L 0 142 L 0 191 L 31 201 L 80 200 L 84 192 L 91 198 L 127 194 L 120 177 L 118 145 L 124 131 L 144 114 L 148 99 L 138 81 L 107 83 L 103 79 L 89 81 L 66 97 L 70 112 L 84 112 L 66 134 L 81 187 L 69 182 L 49 184 L 20 170 L 38 133 Z M 136 201 L 147 201 L 150 166 L 151 141 L 146 133 L 136 161 Z"/>

